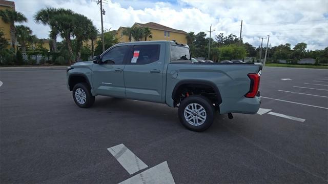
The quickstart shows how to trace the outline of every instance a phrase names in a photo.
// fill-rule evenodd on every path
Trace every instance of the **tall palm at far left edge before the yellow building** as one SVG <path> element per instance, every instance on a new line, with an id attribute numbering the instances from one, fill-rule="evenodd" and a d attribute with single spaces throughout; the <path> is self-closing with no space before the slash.
<path id="1" fill-rule="evenodd" d="M 3 22 L 10 24 L 11 45 L 12 48 L 15 49 L 15 43 L 16 43 L 15 23 L 27 22 L 27 18 L 24 16 L 24 14 L 10 9 L 0 10 L 0 17 L 2 18 Z"/>

